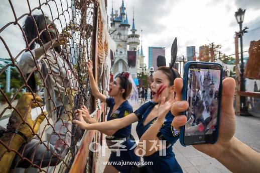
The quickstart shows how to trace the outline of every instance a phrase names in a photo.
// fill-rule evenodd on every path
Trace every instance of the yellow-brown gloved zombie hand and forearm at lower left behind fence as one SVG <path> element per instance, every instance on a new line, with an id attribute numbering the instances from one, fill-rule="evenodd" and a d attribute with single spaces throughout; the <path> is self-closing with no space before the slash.
<path id="1" fill-rule="evenodd" d="M 47 115 L 47 112 L 43 112 L 36 120 L 32 120 L 32 109 L 43 105 L 40 103 L 42 99 L 39 96 L 34 94 L 34 97 L 31 93 L 23 94 L 17 103 L 17 111 L 14 110 L 9 118 L 7 133 L 4 133 L 1 137 L 1 141 L 5 143 L 9 149 L 18 151 L 23 143 L 28 142 L 28 140 L 38 132 L 40 124 Z M 23 135 L 16 132 L 10 133 L 12 130 L 17 130 Z M 8 149 L 0 144 L 0 170 L 2 170 L 2 172 L 9 172 L 12 161 L 16 155 L 14 151 L 8 152 Z"/>

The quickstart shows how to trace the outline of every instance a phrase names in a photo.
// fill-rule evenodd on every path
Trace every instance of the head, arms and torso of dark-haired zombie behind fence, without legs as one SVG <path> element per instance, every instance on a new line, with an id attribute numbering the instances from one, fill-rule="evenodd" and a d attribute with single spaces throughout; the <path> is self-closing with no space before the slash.
<path id="1" fill-rule="evenodd" d="M 35 23 L 36 25 L 35 25 Z M 76 88 L 77 80 L 74 76 L 74 70 L 68 60 L 69 52 L 66 47 L 61 49 L 61 44 L 66 44 L 66 34 L 58 35 L 55 24 L 44 15 L 28 16 L 23 26 L 25 40 L 29 44 L 18 66 L 24 75 L 29 78 L 29 87 L 35 92 L 35 76 L 41 79 L 45 86 L 44 97 L 48 116 L 54 121 L 56 119 L 56 108 L 68 103 L 65 97 L 66 88 Z M 38 39 L 40 33 L 40 39 Z M 36 45 L 40 45 L 36 48 Z M 53 48 L 51 48 L 53 47 Z M 37 66 L 36 66 L 37 65 Z"/>

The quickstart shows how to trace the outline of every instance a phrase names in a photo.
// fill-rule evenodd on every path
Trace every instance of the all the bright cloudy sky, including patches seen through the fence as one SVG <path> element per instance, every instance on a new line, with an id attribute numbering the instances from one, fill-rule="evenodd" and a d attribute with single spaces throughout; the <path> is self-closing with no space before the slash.
<path id="1" fill-rule="evenodd" d="M 29 13 L 26 0 L 11 1 L 16 16 Z M 30 0 L 30 8 L 39 6 L 39 1 Z M 40 0 L 41 3 L 45 2 Z M 56 1 L 50 4 L 54 18 L 57 10 L 61 10 L 70 3 L 69 0 Z M 108 2 L 108 14 L 111 13 L 112 0 Z M 119 10 L 121 0 L 113 0 L 114 9 Z M 244 51 L 248 50 L 251 40 L 260 39 L 260 1 L 259 0 L 124 0 L 128 21 L 132 25 L 133 9 L 135 9 L 135 24 L 137 33 L 143 30 L 143 49 L 148 63 L 148 46 L 166 47 L 166 59 L 170 61 L 170 48 L 175 37 L 178 40 L 178 54 L 186 56 L 186 46 L 199 46 L 214 42 L 221 44 L 221 52 L 229 55 L 234 53 L 234 34 L 239 30 L 234 12 L 238 8 L 246 9 L 243 26 L 247 26 L 248 33 L 244 34 Z M 43 6 L 42 10 L 48 16 L 49 6 Z M 9 1 L 0 4 L 0 28 L 15 20 Z M 41 12 L 35 11 L 40 14 Z M 22 26 L 25 17 L 19 20 Z M 56 21 L 56 25 L 57 25 Z M 59 25 L 58 25 L 59 26 Z M 131 26 L 132 27 L 132 26 Z M 61 28 L 60 28 L 61 29 Z M 25 48 L 21 30 L 18 25 L 10 25 L 0 36 L 6 41 L 12 55 L 15 57 Z M 9 58 L 2 41 L 0 41 L 1 58 Z M 245 54 L 246 56 L 246 54 Z"/>

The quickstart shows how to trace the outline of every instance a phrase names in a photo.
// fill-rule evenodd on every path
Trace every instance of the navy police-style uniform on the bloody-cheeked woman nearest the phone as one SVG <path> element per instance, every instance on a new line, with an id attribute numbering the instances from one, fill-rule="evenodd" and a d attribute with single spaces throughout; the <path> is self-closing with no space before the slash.
<path id="1" fill-rule="evenodd" d="M 135 111 L 139 122 L 137 125 L 137 134 L 139 138 L 148 130 L 148 128 L 156 121 L 157 118 L 151 120 L 148 124 L 144 126 L 144 121 L 155 107 L 155 103 L 150 101 L 142 105 L 138 110 Z M 172 121 L 174 116 L 171 112 L 168 112 L 164 124 L 160 129 L 160 133 L 163 136 L 164 140 L 170 144 L 166 149 L 166 154 L 160 156 L 160 151 L 157 151 L 149 156 L 144 156 L 145 161 L 152 161 L 153 165 L 147 165 L 149 172 L 182 172 L 182 169 L 175 159 L 175 154 L 173 153 L 172 145 L 179 139 L 179 131 L 174 130 L 172 127 Z M 141 144 L 142 145 L 142 144 Z M 159 147 L 159 146 L 158 146 Z M 150 148 L 146 148 L 150 149 Z"/>

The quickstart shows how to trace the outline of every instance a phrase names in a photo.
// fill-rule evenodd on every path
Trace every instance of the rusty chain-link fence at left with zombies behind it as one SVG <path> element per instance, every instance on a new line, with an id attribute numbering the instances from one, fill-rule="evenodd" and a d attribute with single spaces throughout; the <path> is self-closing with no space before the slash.
<path id="1" fill-rule="evenodd" d="M 93 61 L 91 70 L 102 92 L 110 72 L 104 65 L 109 48 L 100 2 L 105 5 L 97 0 L 3 3 L 1 172 L 69 172 L 74 165 L 84 133 L 72 124 L 74 111 L 82 105 L 89 112 L 100 109 L 85 64 Z M 99 133 L 92 139 L 99 141 Z M 91 172 L 97 156 L 88 153 L 81 164 Z"/>

